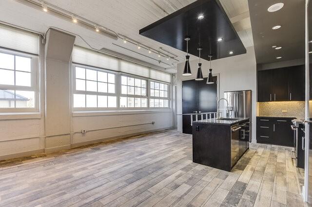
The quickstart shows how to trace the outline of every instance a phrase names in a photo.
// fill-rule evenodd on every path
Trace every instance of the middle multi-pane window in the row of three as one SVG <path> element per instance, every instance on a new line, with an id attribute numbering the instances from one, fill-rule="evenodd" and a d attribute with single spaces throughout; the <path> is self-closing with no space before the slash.
<path id="1" fill-rule="evenodd" d="M 147 80 L 121 75 L 121 108 L 147 108 Z"/>

